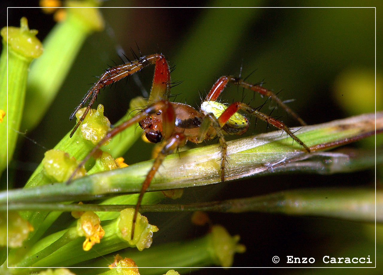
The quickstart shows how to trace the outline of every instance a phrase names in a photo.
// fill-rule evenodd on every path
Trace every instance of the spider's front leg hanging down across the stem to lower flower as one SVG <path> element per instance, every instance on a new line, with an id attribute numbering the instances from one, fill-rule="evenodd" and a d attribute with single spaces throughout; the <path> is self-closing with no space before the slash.
<path id="1" fill-rule="evenodd" d="M 154 159 L 154 163 L 152 168 L 149 170 L 149 172 L 146 175 L 146 178 L 144 182 L 142 183 L 140 195 L 138 197 L 136 207 L 134 208 L 134 215 L 133 215 L 133 222 L 132 222 L 132 231 L 131 231 L 131 239 L 133 239 L 134 236 L 134 228 L 136 226 L 136 220 L 137 220 L 137 214 L 138 210 L 140 208 L 142 198 L 144 197 L 144 194 L 149 187 L 155 173 L 157 172 L 158 168 L 162 164 L 162 161 L 164 161 L 164 158 L 167 155 L 170 155 L 173 153 L 174 150 L 176 150 L 178 147 L 182 147 L 185 145 L 187 139 L 183 133 L 174 133 L 162 146 L 159 154 Z"/>

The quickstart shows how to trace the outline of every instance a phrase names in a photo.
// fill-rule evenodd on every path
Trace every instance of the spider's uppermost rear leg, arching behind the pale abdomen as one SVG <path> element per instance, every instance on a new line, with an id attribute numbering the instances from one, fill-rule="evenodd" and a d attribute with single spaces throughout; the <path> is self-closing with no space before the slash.
<path id="1" fill-rule="evenodd" d="M 213 87 L 211 88 L 210 92 L 206 96 L 205 101 L 216 101 L 219 94 L 222 93 L 225 86 L 228 84 L 228 82 L 231 82 L 235 85 L 241 86 L 243 88 L 249 89 L 251 91 L 257 92 L 261 94 L 262 96 L 267 96 L 268 98 L 271 98 L 273 101 L 275 101 L 279 106 L 281 106 L 290 116 L 292 116 L 294 119 L 296 119 L 301 125 L 307 125 L 306 122 L 301 119 L 298 114 L 296 114 L 293 110 L 290 109 L 285 103 L 283 103 L 282 100 L 278 98 L 278 96 L 273 93 L 272 91 L 263 88 L 259 85 L 254 85 L 247 83 L 243 81 L 241 78 L 236 78 L 231 75 L 225 75 L 221 76 L 216 83 L 214 83 Z"/>

